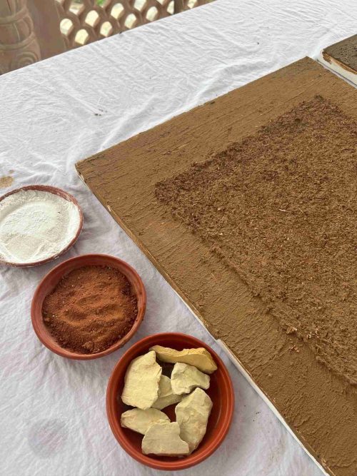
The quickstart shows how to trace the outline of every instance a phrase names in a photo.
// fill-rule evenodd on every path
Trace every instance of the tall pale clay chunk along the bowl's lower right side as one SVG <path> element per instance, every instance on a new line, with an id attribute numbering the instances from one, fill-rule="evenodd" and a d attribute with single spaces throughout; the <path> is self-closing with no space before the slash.
<path id="1" fill-rule="evenodd" d="M 196 450 L 206 433 L 212 400 L 204 390 L 196 388 L 176 405 L 176 422 L 180 425 L 180 436 L 188 442 L 190 453 Z"/>

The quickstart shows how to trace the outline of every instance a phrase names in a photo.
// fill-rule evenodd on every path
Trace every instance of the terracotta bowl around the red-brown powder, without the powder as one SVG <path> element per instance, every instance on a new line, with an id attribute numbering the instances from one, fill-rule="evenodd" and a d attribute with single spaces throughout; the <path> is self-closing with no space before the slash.
<path id="1" fill-rule="evenodd" d="M 51 291 L 56 287 L 57 283 L 59 283 L 59 280 L 61 280 L 64 275 L 77 268 L 90 265 L 111 266 L 111 268 L 118 269 L 126 276 L 126 278 L 128 278 L 132 289 L 138 298 L 138 314 L 136 315 L 136 319 L 134 320 L 134 324 L 131 330 L 129 330 L 129 333 L 124 335 L 124 338 L 118 340 L 118 342 L 111 345 L 106 350 L 103 350 L 103 352 L 95 354 L 74 353 L 70 350 L 62 348 L 61 345 L 59 345 L 59 343 L 57 343 L 56 340 L 54 340 L 54 338 L 51 336 L 49 330 L 47 330 L 42 318 L 42 304 L 44 303 L 44 298 L 46 298 L 46 295 L 51 293 Z M 46 345 L 46 348 L 49 348 L 49 350 L 52 350 L 52 352 L 69 359 L 90 360 L 103 357 L 104 355 L 108 355 L 123 347 L 123 345 L 133 337 L 133 335 L 136 333 L 136 330 L 138 330 L 139 325 L 144 319 L 145 310 L 146 291 L 144 288 L 144 283 L 134 268 L 131 268 L 128 263 L 125 263 L 125 261 L 115 258 L 114 256 L 81 255 L 77 256 L 76 258 L 66 260 L 60 265 L 56 266 L 56 268 L 52 269 L 48 274 L 46 274 L 43 280 L 41 280 L 34 293 L 34 298 L 32 298 L 31 320 L 37 337 L 39 340 L 41 340 L 41 343 Z"/>

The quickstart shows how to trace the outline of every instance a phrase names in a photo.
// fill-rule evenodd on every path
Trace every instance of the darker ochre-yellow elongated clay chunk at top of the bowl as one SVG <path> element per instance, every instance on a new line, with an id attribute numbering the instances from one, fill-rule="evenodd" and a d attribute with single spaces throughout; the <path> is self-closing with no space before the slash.
<path id="1" fill-rule="evenodd" d="M 213 373 L 217 370 L 212 355 L 204 348 L 175 350 L 161 345 L 154 345 L 150 350 L 155 350 L 156 355 L 163 362 L 182 362 L 201 370 L 204 373 Z"/>

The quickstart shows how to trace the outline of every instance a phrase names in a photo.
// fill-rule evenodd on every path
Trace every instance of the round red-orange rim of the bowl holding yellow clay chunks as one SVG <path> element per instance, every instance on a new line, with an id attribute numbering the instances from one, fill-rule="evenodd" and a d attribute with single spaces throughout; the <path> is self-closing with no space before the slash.
<path id="1" fill-rule="evenodd" d="M 118 415 L 116 400 L 118 397 L 118 385 L 119 377 L 122 373 L 125 374 L 126 368 L 133 358 L 136 357 L 136 352 L 140 349 L 143 352 L 149 350 L 152 345 L 160 345 L 164 340 L 174 338 L 181 340 L 183 346 L 187 348 L 188 345 L 195 347 L 203 347 L 211 353 L 213 359 L 216 361 L 218 368 L 223 375 L 224 389 L 222 390 L 224 394 L 224 407 L 223 407 L 223 420 L 220 422 L 220 427 L 218 434 L 213 437 L 212 441 L 204 448 L 198 446 L 191 455 L 181 458 L 180 460 L 167 461 L 159 460 L 159 458 L 152 458 L 148 455 L 144 455 L 141 451 L 136 450 L 134 445 L 129 442 L 127 439 L 123 428 L 120 425 L 120 416 Z M 140 354 L 139 354 L 140 355 Z M 124 371 L 123 371 L 124 368 Z M 216 370 L 217 371 L 217 370 Z M 124 378 L 124 376 L 123 376 Z M 214 350 L 204 343 L 202 340 L 199 340 L 192 335 L 183 334 L 183 333 L 158 333 L 151 334 L 147 337 L 138 340 L 136 343 L 131 345 L 131 347 L 126 350 L 126 353 L 121 356 L 118 363 L 114 367 L 114 370 L 111 373 L 109 378 L 108 387 L 106 390 L 106 414 L 108 416 L 109 425 L 111 431 L 113 432 L 116 440 L 119 442 L 119 445 L 131 456 L 134 460 L 139 461 L 142 465 L 152 467 L 156 470 L 166 470 L 166 471 L 178 471 L 185 470 L 188 467 L 198 465 L 198 463 L 206 460 L 217 448 L 221 445 L 224 438 L 226 437 L 229 427 L 233 419 L 234 412 L 234 390 L 231 376 L 228 373 L 226 365 L 224 365 L 223 360 L 214 352 Z"/>

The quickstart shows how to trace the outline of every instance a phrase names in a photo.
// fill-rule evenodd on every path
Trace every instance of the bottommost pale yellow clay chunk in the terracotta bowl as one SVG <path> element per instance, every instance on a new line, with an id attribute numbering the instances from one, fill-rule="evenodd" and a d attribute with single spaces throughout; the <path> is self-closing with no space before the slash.
<path id="1" fill-rule="evenodd" d="M 180 427 L 177 422 L 160 420 L 153 423 L 145 433 L 141 442 L 144 455 L 182 456 L 188 455 L 189 447 L 180 438 Z"/>

